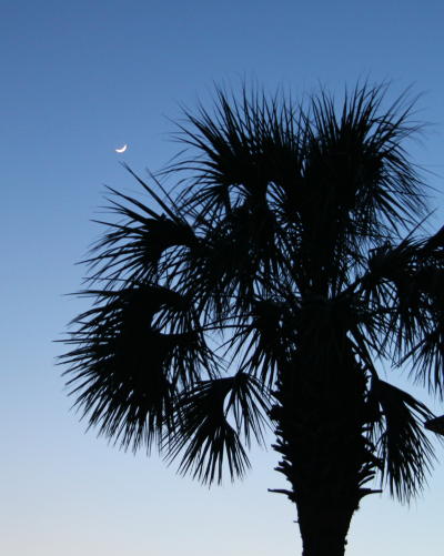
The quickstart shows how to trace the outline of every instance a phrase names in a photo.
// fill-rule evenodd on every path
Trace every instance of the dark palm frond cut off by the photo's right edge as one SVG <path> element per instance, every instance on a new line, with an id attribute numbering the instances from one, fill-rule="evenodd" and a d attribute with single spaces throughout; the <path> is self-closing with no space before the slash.
<path id="1" fill-rule="evenodd" d="M 442 231 L 425 240 L 405 239 L 374 250 L 363 291 L 384 313 L 385 341 L 398 364 L 432 392 L 444 393 L 444 240 Z"/>

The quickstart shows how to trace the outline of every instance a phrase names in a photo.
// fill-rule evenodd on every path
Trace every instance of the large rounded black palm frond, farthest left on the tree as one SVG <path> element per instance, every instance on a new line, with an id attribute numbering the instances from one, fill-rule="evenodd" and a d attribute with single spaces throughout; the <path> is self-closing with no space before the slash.
<path id="1" fill-rule="evenodd" d="M 180 390 L 214 376 L 214 357 L 175 292 L 149 284 L 84 295 L 95 306 L 73 322 L 65 342 L 75 348 L 61 358 L 74 406 L 123 448 L 149 448 L 171 421 Z"/>

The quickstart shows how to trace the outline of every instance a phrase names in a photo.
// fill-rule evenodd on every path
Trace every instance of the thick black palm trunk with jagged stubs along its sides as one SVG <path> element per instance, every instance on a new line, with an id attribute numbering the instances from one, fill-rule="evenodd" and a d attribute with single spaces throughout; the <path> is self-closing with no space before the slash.
<path id="1" fill-rule="evenodd" d="M 343 556 L 351 518 L 371 492 L 362 488 L 375 465 L 363 433 L 365 375 L 354 357 L 341 358 L 322 376 L 302 363 L 281 375 L 275 393 L 278 471 L 291 484 L 303 556 Z"/>

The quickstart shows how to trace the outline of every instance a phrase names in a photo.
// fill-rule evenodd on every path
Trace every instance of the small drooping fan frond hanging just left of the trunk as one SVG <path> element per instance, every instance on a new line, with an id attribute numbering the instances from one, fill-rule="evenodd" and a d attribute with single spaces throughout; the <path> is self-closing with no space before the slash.
<path id="1" fill-rule="evenodd" d="M 262 443 L 269 411 L 270 393 L 244 373 L 198 383 L 175 406 L 174 426 L 164 437 L 167 458 L 180 456 L 179 471 L 203 483 L 221 483 L 224 464 L 232 479 L 242 477 L 250 462 L 241 437 L 246 446 L 251 435 Z"/>

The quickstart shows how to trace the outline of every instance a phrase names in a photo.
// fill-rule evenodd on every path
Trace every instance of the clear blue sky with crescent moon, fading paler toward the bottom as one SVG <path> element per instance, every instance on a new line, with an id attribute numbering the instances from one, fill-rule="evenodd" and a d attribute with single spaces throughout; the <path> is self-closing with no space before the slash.
<path id="1" fill-rule="evenodd" d="M 178 148 L 169 119 L 213 82 L 296 97 L 357 78 L 392 80 L 393 94 L 413 84 L 418 117 L 435 125 L 411 152 L 442 201 L 444 4 L 14 0 L 0 14 L 0 553 L 299 554 L 293 507 L 266 492 L 283 486 L 272 451 L 252 454 L 243 483 L 209 492 L 84 434 L 54 365 L 52 340 L 83 307 L 63 294 L 80 287 L 74 262 L 98 235 L 103 183 L 137 191 L 119 161 L 162 168 Z M 443 498 L 438 465 L 411 507 L 364 499 L 347 556 L 441 556 Z"/>

